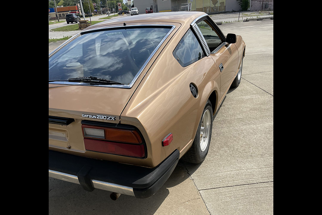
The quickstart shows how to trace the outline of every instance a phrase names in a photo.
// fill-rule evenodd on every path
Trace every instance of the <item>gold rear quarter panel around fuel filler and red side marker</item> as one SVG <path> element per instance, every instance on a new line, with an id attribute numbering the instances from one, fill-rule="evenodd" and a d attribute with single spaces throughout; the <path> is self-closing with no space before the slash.
<path id="1" fill-rule="evenodd" d="M 133 124 L 143 133 L 151 167 L 175 149 L 180 151 L 180 158 L 185 154 L 192 145 L 209 95 L 219 91 L 220 75 L 211 56 L 186 67 L 173 56 L 186 30 L 166 45 L 120 116 L 121 123 Z M 198 87 L 197 98 L 190 92 L 190 83 Z M 173 141 L 163 147 L 161 142 L 170 132 Z"/>

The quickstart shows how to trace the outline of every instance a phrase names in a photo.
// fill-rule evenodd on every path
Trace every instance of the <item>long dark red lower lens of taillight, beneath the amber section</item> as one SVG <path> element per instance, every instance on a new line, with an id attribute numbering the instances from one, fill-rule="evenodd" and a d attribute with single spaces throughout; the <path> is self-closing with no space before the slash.
<path id="1" fill-rule="evenodd" d="M 84 138 L 85 149 L 131 157 L 145 157 L 144 145 L 116 143 Z"/>

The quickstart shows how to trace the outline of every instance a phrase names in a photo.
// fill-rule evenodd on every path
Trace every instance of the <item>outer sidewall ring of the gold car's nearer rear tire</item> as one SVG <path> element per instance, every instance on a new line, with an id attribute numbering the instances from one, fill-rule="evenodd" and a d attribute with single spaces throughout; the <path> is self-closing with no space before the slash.
<path id="1" fill-rule="evenodd" d="M 210 138 L 208 139 L 206 149 L 204 151 L 201 151 L 201 148 L 200 148 L 200 128 L 201 128 L 202 118 L 203 118 L 204 112 L 206 110 L 209 110 L 209 112 L 210 112 L 210 133 L 209 133 Z M 196 138 L 195 138 L 196 149 L 197 149 L 197 158 L 198 158 L 199 161 L 203 161 L 205 159 L 205 157 L 207 156 L 207 154 L 208 154 L 209 146 L 210 146 L 210 140 L 211 140 L 211 134 L 212 134 L 212 129 L 213 129 L 213 110 L 212 110 L 212 106 L 211 106 L 211 103 L 210 103 L 209 100 L 207 101 L 207 104 L 206 104 L 206 106 L 204 108 L 204 112 L 201 115 L 201 119 L 199 121 L 198 129 L 197 129 L 197 133 L 196 133 Z"/>

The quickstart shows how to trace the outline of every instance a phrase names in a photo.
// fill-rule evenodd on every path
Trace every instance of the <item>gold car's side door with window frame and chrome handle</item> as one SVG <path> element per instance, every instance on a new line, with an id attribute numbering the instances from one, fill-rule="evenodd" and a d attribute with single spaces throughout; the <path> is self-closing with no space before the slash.
<path id="1" fill-rule="evenodd" d="M 196 25 L 204 37 L 210 56 L 219 67 L 221 80 L 219 103 L 221 103 L 237 71 L 238 51 L 235 44 L 225 42 L 226 37 L 209 17 L 201 18 Z"/>

